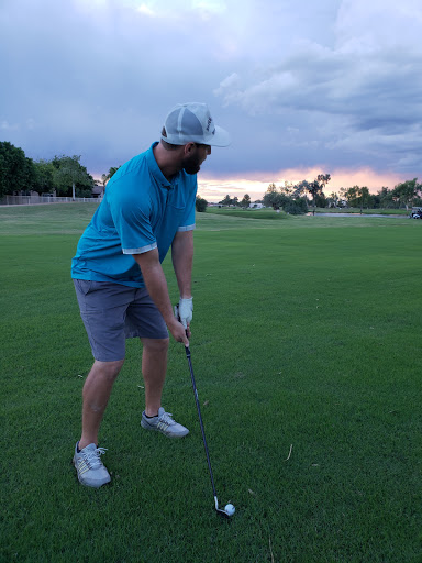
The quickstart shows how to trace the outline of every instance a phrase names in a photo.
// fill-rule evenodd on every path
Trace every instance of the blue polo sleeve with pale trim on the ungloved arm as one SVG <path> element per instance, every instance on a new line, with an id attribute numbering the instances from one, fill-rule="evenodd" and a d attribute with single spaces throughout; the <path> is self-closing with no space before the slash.
<path id="1" fill-rule="evenodd" d="M 143 254 L 157 247 L 151 224 L 151 200 L 147 194 L 143 199 L 131 194 L 131 189 L 114 189 L 110 212 L 123 254 Z"/>

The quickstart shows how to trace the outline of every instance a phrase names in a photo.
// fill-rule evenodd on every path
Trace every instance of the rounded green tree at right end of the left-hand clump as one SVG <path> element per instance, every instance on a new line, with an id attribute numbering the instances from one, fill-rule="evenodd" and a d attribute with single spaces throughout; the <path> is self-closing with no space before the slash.
<path id="1" fill-rule="evenodd" d="M 93 187 L 93 178 L 88 174 L 87 168 L 80 163 L 80 156 L 55 156 L 52 164 L 54 170 L 54 184 L 59 194 L 69 196 L 75 199 L 76 190 L 78 197 L 91 195 Z"/>

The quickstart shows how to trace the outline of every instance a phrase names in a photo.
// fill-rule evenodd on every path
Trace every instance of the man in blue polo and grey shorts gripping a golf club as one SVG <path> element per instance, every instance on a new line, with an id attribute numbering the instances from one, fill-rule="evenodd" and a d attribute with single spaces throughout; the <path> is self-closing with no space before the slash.
<path id="1" fill-rule="evenodd" d="M 74 465 L 81 484 L 110 482 L 101 462 L 98 431 L 113 383 L 122 368 L 125 339 L 143 344 L 145 410 L 141 426 L 181 438 L 189 430 L 162 407 L 168 331 L 189 345 L 192 319 L 197 173 L 211 146 L 227 146 L 204 103 L 176 106 L 159 143 L 125 163 L 107 185 L 104 198 L 82 234 L 71 277 L 95 357 L 82 391 L 82 433 Z M 180 291 L 177 320 L 160 263 L 171 246 Z"/>

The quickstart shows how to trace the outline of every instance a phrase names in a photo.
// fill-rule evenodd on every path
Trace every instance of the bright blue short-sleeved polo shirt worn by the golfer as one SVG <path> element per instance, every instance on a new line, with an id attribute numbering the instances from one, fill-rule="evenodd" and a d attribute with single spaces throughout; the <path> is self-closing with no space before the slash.
<path id="1" fill-rule="evenodd" d="M 158 249 L 163 262 L 178 231 L 195 229 L 197 176 L 185 170 L 168 181 L 154 143 L 114 174 L 79 240 L 71 277 L 144 287 L 132 254 Z"/>

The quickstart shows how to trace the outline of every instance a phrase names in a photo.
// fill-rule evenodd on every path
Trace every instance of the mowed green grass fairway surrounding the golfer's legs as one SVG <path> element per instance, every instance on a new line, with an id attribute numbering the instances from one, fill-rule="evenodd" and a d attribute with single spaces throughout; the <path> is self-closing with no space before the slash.
<path id="1" fill-rule="evenodd" d="M 76 479 L 92 358 L 69 266 L 95 209 L 0 209 L 0 561 L 421 562 L 422 222 L 198 216 L 190 347 L 222 520 L 175 342 L 164 406 L 189 437 L 141 429 L 130 341 L 112 484 Z"/>

